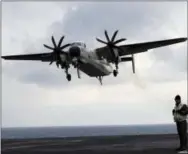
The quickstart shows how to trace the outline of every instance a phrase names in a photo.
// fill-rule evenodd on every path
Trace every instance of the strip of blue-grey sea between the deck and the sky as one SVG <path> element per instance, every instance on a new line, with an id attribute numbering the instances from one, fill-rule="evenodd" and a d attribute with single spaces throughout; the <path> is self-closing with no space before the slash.
<path id="1" fill-rule="evenodd" d="M 174 134 L 175 125 L 2 128 L 1 138 L 48 138 L 138 134 Z"/>

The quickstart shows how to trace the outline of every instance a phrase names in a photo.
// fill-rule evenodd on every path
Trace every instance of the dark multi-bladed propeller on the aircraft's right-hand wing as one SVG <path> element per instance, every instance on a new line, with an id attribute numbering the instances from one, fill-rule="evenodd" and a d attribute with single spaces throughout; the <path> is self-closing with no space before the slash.
<path id="1" fill-rule="evenodd" d="M 105 37 L 106 37 L 107 42 L 105 42 L 105 41 L 103 41 L 103 40 L 101 40 L 101 39 L 99 39 L 99 38 L 96 38 L 96 40 L 97 40 L 98 42 L 103 43 L 103 44 L 105 44 L 105 45 L 107 45 L 107 46 L 109 47 L 110 52 L 111 52 L 111 55 L 112 55 L 112 58 L 113 58 L 114 62 L 116 62 L 116 63 L 118 63 L 118 56 L 115 55 L 115 53 L 114 53 L 114 51 L 113 51 L 113 48 L 116 48 L 116 49 L 118 49 L 118 50 L 122 50 L 122 49 L 121 49 L 120 47 L 118 47 L 116 44 L 118 44 L 118 43 L 120 43 L 120 42 L 126 40 L 125 38 L 121 38 L 121 39 L 115 41 L 115 38 L 116 38 L 116 36 L 117 36 L 117 33 L 118 33 L 118 30 L 116 30 L 116 31 L 114 32 L 112 38 L 110 39 L 110 38 L 109 38 L 109 35 L 108 35 L 108 32 L 105 30 L 105 31 L 104 31 L 104 34 L 105 34 Z"/>

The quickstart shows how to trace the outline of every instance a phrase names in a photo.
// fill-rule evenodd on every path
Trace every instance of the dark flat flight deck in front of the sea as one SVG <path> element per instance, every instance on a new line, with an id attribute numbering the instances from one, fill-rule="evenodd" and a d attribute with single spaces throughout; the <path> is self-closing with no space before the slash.
<path id="1" fill-rule="evenodd" d="M 134 135 L 3 139 L 2 154 L 175 154 L 178 136 Z"/>

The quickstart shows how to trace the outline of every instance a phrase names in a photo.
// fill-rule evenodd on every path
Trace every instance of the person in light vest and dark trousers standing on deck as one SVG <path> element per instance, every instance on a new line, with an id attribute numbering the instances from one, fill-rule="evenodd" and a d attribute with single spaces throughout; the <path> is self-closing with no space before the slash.
<path id="1" fill-rule="evenodd" d="M 176 123 L 177 132 L 180 140 L 180 147 L 176 150 L 179 153 L 184 153 L 187 151 L 187 115 L 188 106 L 182 104 L 180 95 L 175 97 L 175 107 L 172 110 L 174 117 L 174 122 Z"/>

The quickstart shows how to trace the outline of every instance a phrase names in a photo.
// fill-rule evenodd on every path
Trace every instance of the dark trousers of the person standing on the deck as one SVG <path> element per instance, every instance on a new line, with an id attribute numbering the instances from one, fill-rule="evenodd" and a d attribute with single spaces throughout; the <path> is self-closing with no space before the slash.
<path id="1" fill-rule="evenodd" d="M 180 147 L 187 148 L 187 121 L 176 122 Z"/>

